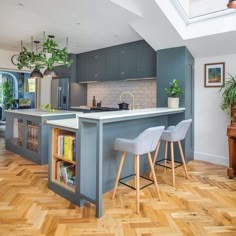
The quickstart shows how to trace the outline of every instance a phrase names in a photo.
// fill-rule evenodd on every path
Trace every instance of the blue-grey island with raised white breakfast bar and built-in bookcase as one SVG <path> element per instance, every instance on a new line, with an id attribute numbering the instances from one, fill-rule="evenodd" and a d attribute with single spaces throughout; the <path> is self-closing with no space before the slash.
<path id="1" fill-rule="evenodd" d="M 76 185 L 73 197 L 68 198 L 72 202 L 83 205 L 85 201 L 96 205 L 96 216 L 102 216 L 102 194 L 113 188 L 120 161 L 120 153 L 114 151 L 115 138 L 134 138 L 144 129 L 153 126 L 176 125 L 183 120 L 185 108 L 152 108 L 128 111 L 96 112 L 78 115 L 78 127 L 72 130 L 76 132 Z M 51 128 L 71 129 L 63 121 L 49 121 Z M 71 130 L 71 131 L 72 131 Z M 53 135 L 51 132 L 50 135 Z M 188 138 L 191 139 L 191 136 Z M 57 140 L 53 141 L 55 145 Z M 192 140 L 183 143 L 183 151 L 186 159 L 193 158 Z M 55 149 L 55 148 L 53 148 Z M 163 151 L 160 150 L 160 155 Z M 50 159 L 53 160 L 51 152 Z M 58 188 L 58 181 L 54 181 L 55 161 L 49 161 L 49 186 L 52 190 L 66 197 L 63 187 Z M 140 173 L 148 171 L 146 158 L 140 158 Z M 133 158 L 127 158 L 121 177 L 133 173 Z M 68 190 L 71 192 L 71 190 Z M 67 198 L 67 197 L 66 197 Z M 76 199 L 76 200 L 73 200 Z"/>

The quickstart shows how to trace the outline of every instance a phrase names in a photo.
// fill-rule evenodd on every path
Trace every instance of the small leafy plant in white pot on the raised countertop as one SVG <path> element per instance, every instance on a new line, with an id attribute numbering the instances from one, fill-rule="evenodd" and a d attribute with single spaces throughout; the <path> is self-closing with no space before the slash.
<path id="1" fill-rule="evenodd" d="M 169 108 L 178 108 L 179 107 L 179 97 L 182 95 L 183 90 L 179 86 L 179 80 L 173 79 L 170 86 L 165 88 L 165 91 L 168 95 L 168 107 Z"/>

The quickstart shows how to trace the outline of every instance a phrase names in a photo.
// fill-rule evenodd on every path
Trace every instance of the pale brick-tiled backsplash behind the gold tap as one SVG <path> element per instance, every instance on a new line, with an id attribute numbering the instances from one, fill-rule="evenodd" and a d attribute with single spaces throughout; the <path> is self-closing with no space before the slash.
<path id="1" fill-rule="evenodd" d="M 93 96 L 102 106 L 118 107 L 121 93 L 134 94 L 135 105 L 139 108 L 156 107 L 156 80 L 107 81 L 88 84 L 87 101 L 92 106 Z M 124 95 L 122 102 L 132 104 L 132 97 Z"/>

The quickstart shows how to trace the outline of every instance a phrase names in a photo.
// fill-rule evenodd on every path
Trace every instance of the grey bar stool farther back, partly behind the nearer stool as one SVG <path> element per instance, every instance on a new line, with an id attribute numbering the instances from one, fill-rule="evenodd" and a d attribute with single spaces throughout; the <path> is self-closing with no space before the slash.
<path id="1" fill-rule="evenodd" d="M 185 164 L 185 159 L 184 159 L 184 154 L 183 154 L 183 149 L 182 149 L 182 145 L 181 145 L 181 140 L 185 139 L 186 133 L 190 127 L 192 123 L 192 119 L 188 119 L 188 120 L 183 120 L 181 122 L 179 122 L 176 126 L 169 126 L 166 130 L 163 131 L 160 141 L 165 141 L 165 154 L 164 154 L 164 165 L 159 164 L 158 162 L 163 161 L 159 160 L 157 161 L 157 153 L 158 151 L 155 152 L 154 158 L 153 158 L 153 166 L 156 165 L 160 165 L 160 166 L 166 166 L 166 161 L 167 161 L 167 152 L 168 152 L 168 142 L 170 142 L 170 152 L 171 152 L 171 170 L 172 170 L 172 179 L 173 179 L 173 186 L 175 187 L 175 168 L 183 165 L 184 171 L 185 171 L 185 175 L 186 178 L 188 179 L 188 172 L 187 172 L 187 167 Z M 179 147 L 179 152 L 180 152 L 180 156 L 182 159 L 182 162 L 178 162 L 180 163 L 180 165 L 175 167 L 175 161 L 174 160 L 174 145 L 173 142 L 178 142 L 178 147 Z M 159 149 L 159 145 L 160 143 L 158 143 L 156 150 Z M 149 177 L 151 178 L 153 174 L 150 173 Z"/>

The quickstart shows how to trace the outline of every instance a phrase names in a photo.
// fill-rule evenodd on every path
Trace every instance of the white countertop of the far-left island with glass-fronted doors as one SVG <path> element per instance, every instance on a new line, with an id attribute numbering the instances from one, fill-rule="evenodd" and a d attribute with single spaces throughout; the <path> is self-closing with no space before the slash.
<path id="1" fill-rule="evenodd" d="M 64 111 L 64 110 L 55 110 L 55 112 L 48 112 L 48 111 L 42 111 L 42 110 L 36 110 L 36 109 L 15 109 L 15 110 L 6 110 L 6 112 L 9 113 L 15 113 L 15 114 L 25 114 L 25 115 L 31 115 L 31 116 L 60 116 L 60 115 L 72 115 L 76 114 L 76 116 L 83 114 L 82 112 L 75 112 L 75 111 Z"/>

